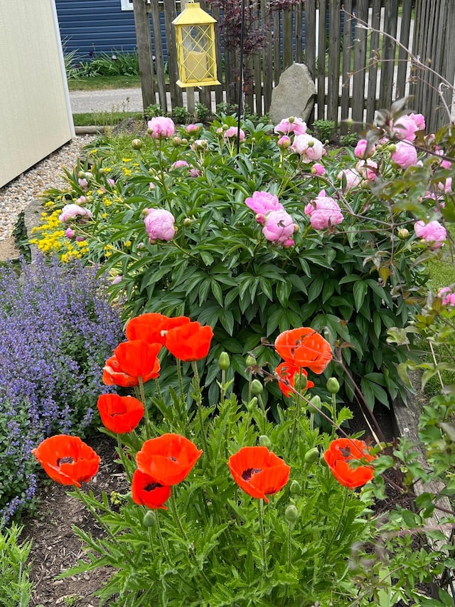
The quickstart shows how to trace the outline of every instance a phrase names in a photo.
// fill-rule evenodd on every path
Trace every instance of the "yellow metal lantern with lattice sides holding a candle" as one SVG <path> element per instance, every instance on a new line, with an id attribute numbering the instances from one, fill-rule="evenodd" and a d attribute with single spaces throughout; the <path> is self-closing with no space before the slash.
<path id="1" fill-rule="evenodd" d="M 216 20 L 203 11 L 198 2 L 188 2 L 186 9 L 172 22 L 176 26 L 178 86 L 220 84 L 216 77 Z"/>

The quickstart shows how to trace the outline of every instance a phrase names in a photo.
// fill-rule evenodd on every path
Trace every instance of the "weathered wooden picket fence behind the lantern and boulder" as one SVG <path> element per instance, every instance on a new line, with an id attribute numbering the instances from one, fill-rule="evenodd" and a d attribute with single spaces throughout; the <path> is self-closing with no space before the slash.
<path id="1" fill-rule="evenodd" d="M 201 8 L 218 20 L 215 32 L 218 80 L 222 84 L 211 89 L 196 88 L 196 92 L 189 89 L 183 93 L 178 88 L 172 21 L 181 11 L 184 2 L 152 1 L 150 6 L 156 58 L 154 95 L 157 94 L 157 101 L 166 111 L 184 105 L 192 111 L 195 100 L 215 110 L 215 106 L 221 102 L 235 104 L 239 99 L 238 48 L 223 42 L 219 9 L 209 0 L 199 1 Z M 425 1 L 417 0 L 417 6 L 421 7 Z M 259 116 L 267 113 L 272 100 L 272 88 L 279 82 L 282 71 L 294 62 L 306 63 L 317 89 L 312 118 L 333 120 L 341 126 L 341 132 L 347 132 L 346 121 L 351 119 L 354 121 L 353 128 L 361 130 L 365 122 L 373 122 L 378 107 L 390 107 L 393 100 L 410 92 L 412 66 L 406 48 L 412 47 L 414 31 L 419 32 L 417 42 L 422 47 L 422 57 L 426 58 L 424 53 L 430 48 L 429 43 L 425 42 L 427 38 L 432 36 L 435 40 L 438 39 L 437 31 L 426 31 L 425 24 L 417 23 L 417 19 L 414 19 L 411 0 L 305 0 L 294 4 L 291 9 L 273 12 L 268 9 L 268 0 L 246 2 L 247 27 L 257 28 L 264 33 L 264 44 L 259 52 L 245 54 L 242 97 L 249 112 L 255 112 Z M 450 2 L 451 0 L 436 0 L 438 5 L 449 5 Z M 435 1 L 432 0 L 432 3 L 435 4 Z M 418 8 L 417 16 L 423 16 L 422 11 L 424 9 Z M 166 63 L 160 27 L 163 20 L 166 31 Z M 454 39 L 453 36 L 451 39 Z M 437 43 L 433 46 L 436 52 Z M 438 53 L 440 57 L 441 52 Z M 168 69 L 168 85 L 165 84 L 165 67 Z M 453 81 L 453 74 L 451 78 Z M 421 97 L 420 107 L 414 109 L 428 113 L 429 107 L 422 107 L 425 105 L 424 95 Z M 436 102 L 434 99 L 432 107 Z"/>

